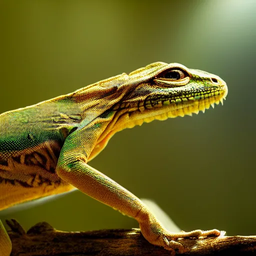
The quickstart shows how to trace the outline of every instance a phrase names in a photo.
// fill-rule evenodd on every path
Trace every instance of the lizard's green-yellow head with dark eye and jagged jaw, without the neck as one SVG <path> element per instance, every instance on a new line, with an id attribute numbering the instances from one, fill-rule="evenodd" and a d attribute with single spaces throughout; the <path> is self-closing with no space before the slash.
<path id="1" fill-rule="evenodd" d="M 118 130 L 204 112 L 223 103 L 227 94 L 226 83 L 219 76 L 178 63 L 155 62 L 132 71 L 127 80 L 132 89 L 129 87 L 112 108 L 119 112 L 114 125 Z"/>

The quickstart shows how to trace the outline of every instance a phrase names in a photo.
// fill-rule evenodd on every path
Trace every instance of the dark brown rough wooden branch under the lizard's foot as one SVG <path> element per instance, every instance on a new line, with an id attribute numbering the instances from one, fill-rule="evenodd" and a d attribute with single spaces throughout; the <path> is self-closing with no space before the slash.
<path id="1" fill-rule="evenodd" d="M 12 219 L 6 221 L 12 241 L 11 256 L 82 255 L 171 255 L 148 243 L 138 228 L 86 232 L 55 230 L 46 222 L 27 232 Z M 178 240 L 188 255 L 256 255 L 256 236 L 182 238 Z"/>

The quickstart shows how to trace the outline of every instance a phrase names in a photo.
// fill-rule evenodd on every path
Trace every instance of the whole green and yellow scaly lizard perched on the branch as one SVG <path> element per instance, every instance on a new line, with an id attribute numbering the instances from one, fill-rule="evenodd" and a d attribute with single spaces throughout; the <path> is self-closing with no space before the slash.
<path id="1" fill-rule="evenodd" d="M 179 63 L 154 62 L 72 93 L 0 114 L 0 210 L 78 188 L 138 221 L 144 238 L 184 252 L 182 237 L 218 236 L 217 229 L 173 233 L 130 191 L 88 165 L 124 128 L 204 112 L 223 102 L 217 75 Z M 0 222 L 0 252 L 11 242 Z"/>

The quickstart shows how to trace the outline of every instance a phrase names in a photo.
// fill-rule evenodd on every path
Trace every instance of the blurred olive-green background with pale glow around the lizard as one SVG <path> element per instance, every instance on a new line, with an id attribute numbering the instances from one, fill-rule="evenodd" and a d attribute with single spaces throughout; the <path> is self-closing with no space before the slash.
<path id="1" fill-rule="evenodd" d="M 255 0 L 1 0 L 0 112 L 155 61 L 217 74 L 223 106 L 125 129 L 90 165 L 183 230 L 256 234 L 255 13 Z M 78 190 L 0 217 L 25 228 L 137 227 Z"/>

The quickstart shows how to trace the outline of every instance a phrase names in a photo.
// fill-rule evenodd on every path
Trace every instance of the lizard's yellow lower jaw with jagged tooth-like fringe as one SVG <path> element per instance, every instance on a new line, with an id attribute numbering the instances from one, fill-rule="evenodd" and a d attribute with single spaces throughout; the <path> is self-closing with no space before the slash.
<path id="1" fill-rule="evenodd" d="M 116 131 L 124 128 L 132 128 L 143 122 L 152 120 L 165 120 L 177 116 L 198 114 L 204 112 L 214 104 L 223 104 L 227 94 L 227 86 L 223 85 L 221 90 L 204 92 L 193 96 L 181 96 L 172 99 L 159 96 L 159 98 L 147 97 L 139 102 L 122 102 L 115 105 L 113 110 L 117 111 L 117 119 L 113 128 Z"/>

